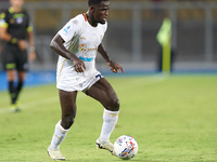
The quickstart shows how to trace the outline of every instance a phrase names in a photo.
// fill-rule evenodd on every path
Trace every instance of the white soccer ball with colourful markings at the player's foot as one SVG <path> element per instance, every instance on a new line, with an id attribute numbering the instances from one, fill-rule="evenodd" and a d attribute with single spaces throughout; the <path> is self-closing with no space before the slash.
<path id="1" fill-rule="evenodd" d="M 128 135 L 119 136 L 114 143 L 115 154 L 124 160 L 133 158 L 138 152 L 137 140 Z"/>

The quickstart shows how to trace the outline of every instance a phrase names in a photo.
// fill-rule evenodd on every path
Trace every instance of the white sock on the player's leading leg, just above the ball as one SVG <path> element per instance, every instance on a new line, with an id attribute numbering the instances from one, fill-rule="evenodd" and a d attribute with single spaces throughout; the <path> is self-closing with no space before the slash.
<path id="1" fill-rule="evenodd" d="M 102 143 L 106 143 L 110 140 L 111 133 L 115 129 L 115 125 L 118 120 L 118 113 L 119 111 L 110 111 L 110 110 L 104 109 L 103 125 L 102 125 L 102 131 L 100 135 L 100 140 Z"/>

